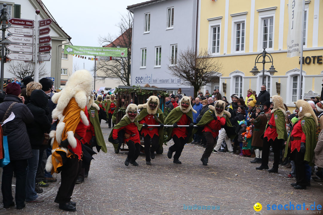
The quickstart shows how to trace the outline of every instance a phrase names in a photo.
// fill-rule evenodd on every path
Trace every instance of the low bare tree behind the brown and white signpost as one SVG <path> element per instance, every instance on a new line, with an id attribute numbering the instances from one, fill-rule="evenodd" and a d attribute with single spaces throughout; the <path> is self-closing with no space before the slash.
<path id="1" fill-rule="evenodd" d="M 46 63 L 39 64 L 39 79 L 47 76 L 45 65 Z M 23 61 L 10 61 L 7 70 L 20 80 L 26 76 L 34 78 L 35 64 L 25 63 Z"/>

